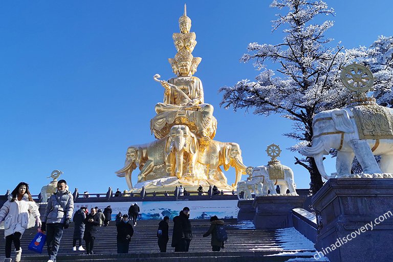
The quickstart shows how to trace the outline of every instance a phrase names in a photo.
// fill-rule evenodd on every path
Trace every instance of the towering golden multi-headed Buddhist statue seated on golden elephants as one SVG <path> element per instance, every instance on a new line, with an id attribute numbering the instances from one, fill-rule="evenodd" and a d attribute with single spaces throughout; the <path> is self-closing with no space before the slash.
<path id="1" fill-rule="evenodd" d="M 196 34 L 190 32 L 191 19 L 184 14 L 179 18 L 180 33 L 172 35 L 176 48 L 174 58 L 168 61 L 176 77 L 154 80 L 164 89 L 164 100 L 155 106 L 156 116 L 150 120 L 150 129 L 157 140 L 129 146 L 124 167 L 117 171 L 125 177 L 130 190 L 147 192 L 171 191 L 182 185 L 188 191 L 217 186 L 231 191 L 245 173 L 242 150 L 232 142 L 212 140 L 217 129 L 214 108 L 205 103 L 201 79 L 193 76 L 202 58 L 193 57 L 197 45 Z M 227 184 L 224 170 L 234 167 L 235 183 Z M 138 182 L 132 184 L 132 173 L 139 168 Z"/>

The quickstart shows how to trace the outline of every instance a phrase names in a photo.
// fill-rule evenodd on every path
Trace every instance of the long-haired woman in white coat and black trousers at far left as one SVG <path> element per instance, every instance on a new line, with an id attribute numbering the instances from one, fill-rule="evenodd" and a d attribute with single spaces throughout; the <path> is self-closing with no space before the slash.
<path id="1" fill-rule="evenodd" d="M 29 217 L 32 214 L 38 227 L 41 226 L 38 207 L 33 201 L 29 185 L 20 182 L 15 189 L 8 195 L 8 201 L 0 210 L 0 222 L 4 220 L 4 234 L 6 237 L 6 259 L 11 262 L 11 244 L 15 246 L 15 261 L 20 261 L 22 249 L 20 248 L 20 238 L 27 229 Z"/>

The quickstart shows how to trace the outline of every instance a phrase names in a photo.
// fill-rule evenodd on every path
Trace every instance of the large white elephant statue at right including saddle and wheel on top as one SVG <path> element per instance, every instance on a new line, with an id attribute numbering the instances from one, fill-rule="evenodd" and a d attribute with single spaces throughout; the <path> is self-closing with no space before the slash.
<path id="1" fill-rule="evenodd" d="M 321 176 L 330 178 L 393 178 L 393 109 L 378 105 L 367 97 L 374 78 L 361 64 L 347 65 L 341 72 L 344 86 L 354 92 L 345 108 L 323 111 L 313 119 L 312 146 L 300 153 L 313 157 Z M 337 149 L 337 172 L 328 176 L 322 157 L 330 148 Z M 374 155 L 380 155 L 378 165 Z M 354 157 L 362 173 L 351 174 Z"/>

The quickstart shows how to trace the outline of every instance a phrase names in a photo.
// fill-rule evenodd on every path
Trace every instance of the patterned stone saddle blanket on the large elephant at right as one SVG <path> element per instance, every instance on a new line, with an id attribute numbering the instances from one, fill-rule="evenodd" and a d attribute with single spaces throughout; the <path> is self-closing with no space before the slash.
<path id="1" fill-rule="evenodd" d="M 393 118 L 386 107 L 357 105 L 351 107 L 360 139 L 393 139 Z"/>

